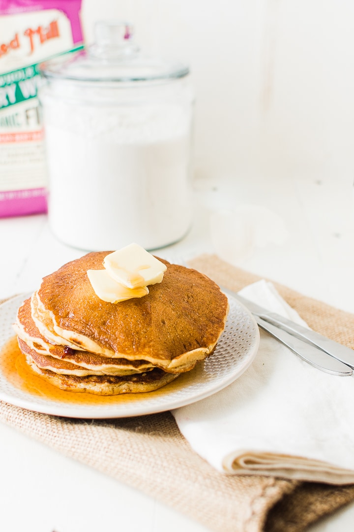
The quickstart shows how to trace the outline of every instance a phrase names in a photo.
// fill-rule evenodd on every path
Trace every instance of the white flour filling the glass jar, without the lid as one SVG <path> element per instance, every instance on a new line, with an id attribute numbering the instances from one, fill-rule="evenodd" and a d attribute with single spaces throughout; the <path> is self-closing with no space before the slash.
<path id="1" fill-rule="evenodd" d="M 191 225 L 191 116 L 183 106 L 45 102 L 48 214 L 63 242 L 152 250 Z"/>

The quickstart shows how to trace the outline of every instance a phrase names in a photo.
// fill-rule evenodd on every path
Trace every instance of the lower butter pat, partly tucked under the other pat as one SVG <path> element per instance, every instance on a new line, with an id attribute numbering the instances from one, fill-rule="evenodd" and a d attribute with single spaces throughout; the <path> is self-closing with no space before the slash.
<path id="1" fill-rule="evenodd" d="M 119 303 L 132 297 L 143 297 L 149 294 L 148 287 L 127 288 L 111 278 L 106 270 L 88 270 L 87 275 L 94 293 L 108 303 Z"/>

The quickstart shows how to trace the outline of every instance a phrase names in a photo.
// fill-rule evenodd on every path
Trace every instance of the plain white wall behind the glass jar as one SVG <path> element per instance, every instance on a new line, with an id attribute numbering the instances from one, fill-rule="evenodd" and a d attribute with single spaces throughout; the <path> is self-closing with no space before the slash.
<path id="1" fill-rule="evenodd" d="M 131 21 L 144 51 L 186 60 L 196 92 L 196 173 L 353 181 L 350 0 L 83 0 L 94 22 Z"/>

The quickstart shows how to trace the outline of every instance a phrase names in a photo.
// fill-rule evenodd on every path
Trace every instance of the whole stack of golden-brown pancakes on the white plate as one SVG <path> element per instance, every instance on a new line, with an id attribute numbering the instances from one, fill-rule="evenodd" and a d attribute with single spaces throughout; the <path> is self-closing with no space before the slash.
<path id="1" fill-rule="evenodd" d="M 87 270 L 111 252 L 89 253 L 45 277 L 15 323 L 20 350 L 54 386 L 98 395 L 150 392 L 209 356 L 225 327 L 227 297 L 208 277 L 167 261 L 149 294 L 102 301 Z"/>

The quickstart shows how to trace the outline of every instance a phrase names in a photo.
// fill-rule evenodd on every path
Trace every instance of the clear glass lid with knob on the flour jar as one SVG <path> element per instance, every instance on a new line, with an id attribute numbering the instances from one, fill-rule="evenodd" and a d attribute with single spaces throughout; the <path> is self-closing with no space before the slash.
<path id="1" fill-rule="evenodd" d="M 45 78 L 76 81 L 154 81 L 182 78 L 189 68 L 141 53 L 127 22 L 97 22 L 96 43 L 73 54 L 61 55 L 40 65 Z"/>

